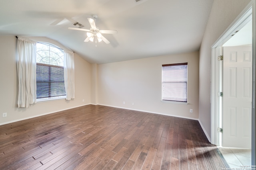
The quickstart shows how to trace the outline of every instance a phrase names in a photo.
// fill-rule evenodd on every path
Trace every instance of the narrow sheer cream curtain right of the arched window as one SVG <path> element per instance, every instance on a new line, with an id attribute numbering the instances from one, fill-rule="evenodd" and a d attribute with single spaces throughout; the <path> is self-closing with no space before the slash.
<path id="1" fill-rule="evenodd" d="M 74 52 L 64 51 L 64 81 L 66 89 L 66 100 L 75 98 L 75 68 Z"/>

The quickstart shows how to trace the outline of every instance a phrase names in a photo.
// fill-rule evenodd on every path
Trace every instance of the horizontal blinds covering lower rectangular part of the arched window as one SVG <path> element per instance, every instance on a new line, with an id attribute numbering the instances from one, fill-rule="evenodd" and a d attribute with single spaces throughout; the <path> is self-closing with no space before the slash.
<path id="1" fill-rule="evenodd" d="M 36 63 L 36 98 L 65 95 L 63 66 Z"/>

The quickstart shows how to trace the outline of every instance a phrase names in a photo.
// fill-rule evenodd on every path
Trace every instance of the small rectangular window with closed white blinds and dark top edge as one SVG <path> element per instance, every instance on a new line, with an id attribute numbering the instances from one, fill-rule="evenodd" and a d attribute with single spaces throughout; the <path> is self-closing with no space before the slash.
<path id="1" fill-rule="evenodd" d="M 162 100 L 187 102 L 188 63 L 162 65 Z"/>

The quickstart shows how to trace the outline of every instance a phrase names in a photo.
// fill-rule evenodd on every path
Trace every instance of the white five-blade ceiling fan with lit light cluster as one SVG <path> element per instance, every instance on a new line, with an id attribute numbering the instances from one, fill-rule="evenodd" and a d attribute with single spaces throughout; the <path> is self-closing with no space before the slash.
<path id="1" fill-rule="evenodd" d="M 95 25 L 95 21 L 98 18 L 98 16 L 93 15 L 92 18 L 87 18 L 89 23 L 90 23 L 90 29 L 83 29 L 83 28 L 74 28 L 74 27 L 68 27 L 68 29 L 74 29 L 74 30 L 79 30 L 79 31 L 86 31 L 87 38 L 84 40 L 84 42 L 88 41 L 94 41 L 97 45 L 97 40 L 98 42 L 104 41 L 106 44 L 109 44 L 110 42 L 102 35 L 102 34 L 116 34 L 116 30 L 100 30 L 98 27 Z"/>

